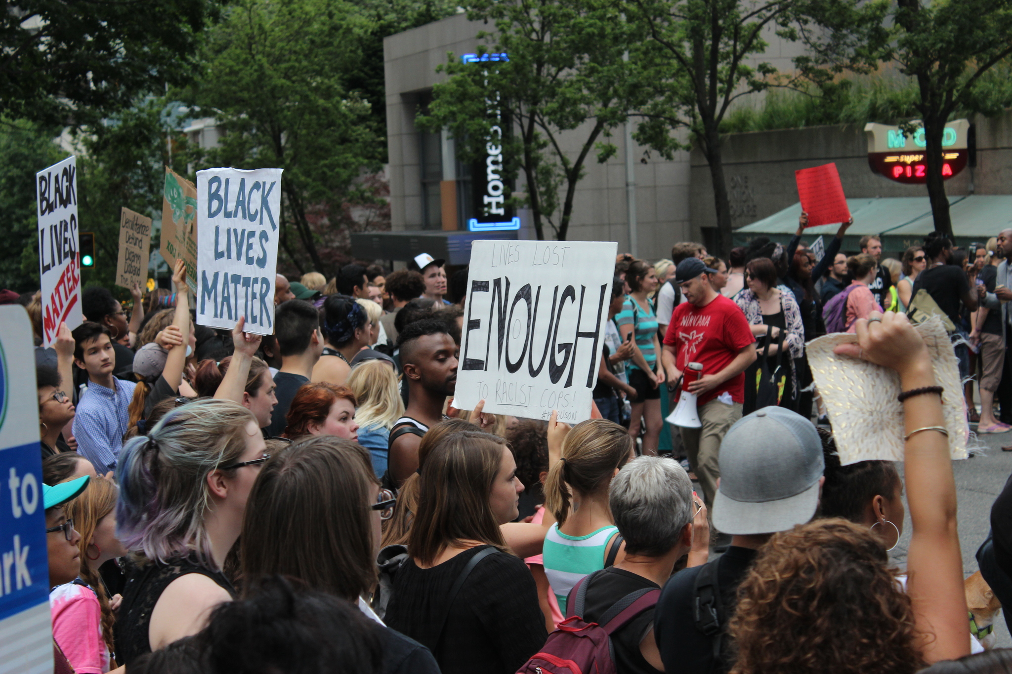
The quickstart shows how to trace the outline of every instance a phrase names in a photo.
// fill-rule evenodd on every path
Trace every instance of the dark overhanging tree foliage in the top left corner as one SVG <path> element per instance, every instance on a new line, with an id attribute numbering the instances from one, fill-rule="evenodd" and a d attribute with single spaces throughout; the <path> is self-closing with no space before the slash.
<path id="1" fill-rule="evenodd" d="M 18 0 L 0 12 L 0 115 L 64 125 L 183 84 L 216 0 Z"/>

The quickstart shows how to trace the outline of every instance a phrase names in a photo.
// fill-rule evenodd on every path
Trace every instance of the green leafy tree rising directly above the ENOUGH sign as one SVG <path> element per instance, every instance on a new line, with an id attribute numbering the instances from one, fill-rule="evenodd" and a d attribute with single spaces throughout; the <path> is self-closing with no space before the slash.
<path id="1" fill-rule="evenodd" d="M 514 129 L 502 134 L 503 173 L 525 183 L 507 203 L 530 208 L 539 239 L 565 240 L 588 158 L 593 152 L 603 163 L 614 155 L 612 129 L 645 102 L 643 31 L 607 0 L 477 0 L 468 10 L 472 20 L 495 25 L 479 33 L 487 41 L 482 53 L 506 53 L 509 61 L 460 63 L 450 55 L 439 67 L 449 78 L 433 88 L 418 124 L 450 129 L 460 158 L 473 161 L 487 142 L 499 142 L 499 116 L 490 113 L 498 109 L 503 128 Z"/>

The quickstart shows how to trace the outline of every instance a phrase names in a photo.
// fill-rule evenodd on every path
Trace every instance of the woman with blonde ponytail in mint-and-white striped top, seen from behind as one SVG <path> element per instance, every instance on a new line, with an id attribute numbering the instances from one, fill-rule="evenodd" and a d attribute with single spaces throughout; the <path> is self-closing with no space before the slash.
<path id="1" fill-rule="evenodd" d="M 573 426 L 563 441 L 562 458 L 549 466 L 544 508 L 556 523 L 544 537 L 544 575 L 559 608 L 584 576 L 621 558 L 621 539 L 608 507 L 608 485 L 636 455 L 632 438 L 607 419 Z"/>

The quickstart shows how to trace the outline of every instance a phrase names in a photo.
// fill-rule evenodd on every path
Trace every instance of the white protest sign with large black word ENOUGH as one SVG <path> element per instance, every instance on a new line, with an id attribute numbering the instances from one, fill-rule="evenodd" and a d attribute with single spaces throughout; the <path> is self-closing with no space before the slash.
<path id="1" fill-rule="evenodd" d="M 453 406 L 485 400 L 497 414 L 590 418 L 617 248 L 475 242 Z"/>

